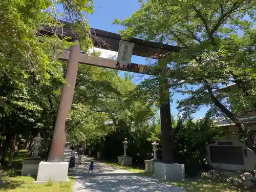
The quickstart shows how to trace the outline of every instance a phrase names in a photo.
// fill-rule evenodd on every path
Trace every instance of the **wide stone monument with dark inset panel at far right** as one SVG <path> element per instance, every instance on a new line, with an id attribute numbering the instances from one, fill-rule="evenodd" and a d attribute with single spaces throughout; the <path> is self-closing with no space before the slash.
<path id="1" fill-rule="evenodd" d="M 222 139 L 206 146 L 207 161 L 216 169 L 226 172 L 254 170 L 256 155 L 238 138 Z"/>

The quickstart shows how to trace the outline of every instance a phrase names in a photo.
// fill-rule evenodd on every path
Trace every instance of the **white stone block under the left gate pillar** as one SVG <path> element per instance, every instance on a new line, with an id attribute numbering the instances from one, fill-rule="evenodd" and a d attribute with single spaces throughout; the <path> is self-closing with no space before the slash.
<path id="1" fill-rule="evenodd" d="M 40 162 L 38 167 L 38 173 L 34 184 L 52 182 L 65 182 L 69 181 L 68 178 L 69 163 L 50 163 Z"/>

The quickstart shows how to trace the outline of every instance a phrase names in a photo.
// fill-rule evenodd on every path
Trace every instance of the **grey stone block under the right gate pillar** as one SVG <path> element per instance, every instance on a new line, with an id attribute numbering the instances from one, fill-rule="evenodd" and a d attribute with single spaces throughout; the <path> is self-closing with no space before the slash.
<path id="1" fill-rule="evenodd" d="M 183 181 L 185 179 L 185 168 L 183 164 L 154 164 L 154 177 L 167 181 Z"/>

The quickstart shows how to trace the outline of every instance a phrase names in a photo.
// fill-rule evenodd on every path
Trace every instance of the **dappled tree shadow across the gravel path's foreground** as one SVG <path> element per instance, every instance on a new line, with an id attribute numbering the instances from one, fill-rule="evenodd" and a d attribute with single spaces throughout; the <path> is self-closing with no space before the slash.
<path id="1" fill-rule="evenodd" d="M 182 192 L 183 189 L 157 179 L 142 177 L 136 174 L 88 174 L 76 178 L 75 191 L 101 192 L 101 191 L 122 191 L 122 192 Z"/>

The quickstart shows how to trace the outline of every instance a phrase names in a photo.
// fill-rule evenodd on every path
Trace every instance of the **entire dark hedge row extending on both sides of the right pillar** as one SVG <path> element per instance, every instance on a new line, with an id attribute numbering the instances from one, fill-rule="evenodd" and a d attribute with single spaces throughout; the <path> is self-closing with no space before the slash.
<path id="1" fill-rule="evenodd" d="M 206 145 L 220 139 L 222 132 L 214 125 L 208 116 L 198 121 L 183 120 L 172 117 L 174 134 L 174 156 L 176 163 L 185 164 L 185 173 L 197 175 L 200 170 L 211 167 L 206 163 Z M 151 159 L 151 142 L 159 142 L 158 158 L 162 160 L 160 120 L 152 126 L 131 131 L 129 129 L 112 132 L 105 137 L 91 140 L 89 150 L 96 155 L 101 152 L 105 160 L 117 159 L 123 155 L 124 138 L 129 141 L 127 155 L 133 157 L 133 164 L 144 167 L 144 160 Z"/>

